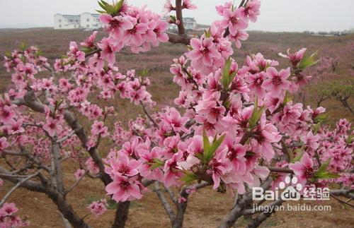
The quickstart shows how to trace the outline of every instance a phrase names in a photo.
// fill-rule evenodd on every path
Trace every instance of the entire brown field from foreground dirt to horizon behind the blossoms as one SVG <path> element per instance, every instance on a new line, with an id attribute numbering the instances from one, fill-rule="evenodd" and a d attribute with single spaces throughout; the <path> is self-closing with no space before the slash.
<path id="1" fill-rule="evenodd" d="M 24 41 L 40 47 L 45 52 L 45 56 L 52 60 L 65 54 L 69 47 L 69 41 L 79 42 L 89 33 L 82 30 L 0 30 L 0 56 L 3 56 L 6 51 L 15 49 Z M 103 32 L 100 33 L 99 37 L 102 35 Z M 336 70 L 336 76 L 340 80 L 341 78 L 354 77 L 353 69 L 350 68 L 352 67 L 350 63 L 354 62 L 354 55 L 353 52 L 350 54 L 346 51 L 348 44 L 353 43 L 354 35 L 314 37 L 300 33 L 250 32 L 249 40 L 244 42 L 241 49 L 235 49 L 234 57 L 239 65 L 242 65 L 247 54 L 261 52 L 268 59 L 280 59 L 278 52 L 284 53 L 288 47 L 292 49 L 308 47 L 310 52 L 320 49 L 320 56 L 333 56 L 337 53 L 333 50 L 338 50 L 338 56 L 341 56 L 341 59 Z M 166 104 L 171 104 L 171 100 L 178 95 L 179 88 L 173 83 L 171 73 L 169 73 L 171 59 L 181 56 L 185 51 L 185 46 L 181 44 L 163 44 L 146 54 L 139 55 L 124 50 L 118 54 L 118 66 L 120 71 L 123 72 L 131 68 L 137 70 L 149 69 L 152 86 L 148 89 L 152 92 L 153 100 L 159 104 L 159 107 L 163 107 Z M 343 53 L 345 56 L 343 56 Z M 284 63 L 282 62 L 282 64 Z M 0 92 L 4 92 L 10 83 L 11 78 L 1 64 Z M 314 105 L 314 97 L 316 97 L 316 94 L 309 92 L 306 103 Z M 353 104 L 353 97 L 350 102 Z M 111 102 L 111 104 L 118 107 L 118 118 L 122 122 L 142 114 L 139 107 L 120 99 Z M 329 119 L 331 124 L 334 120 L 340 118 L 354 120 L 353 115 L 344 109 L 339 102 L 328 100 L 322 106 L 326 107 L 331 114 Z M 100 149 L 104 155 L 108 148 L 103 146 Z M 64 164 L 64 168 L 67 170 L 65 184 L 70 186 L 74 183 L 73 173 L 78 167 L 76 164 L 67 162 Z M 0 188 L 0 198 L 10 187 L 11 184 L 5 182 L 4 186 Z M 92 200 L 102 198 L 104 194 L 101 181 L 85 178 L 68 197 L 79 215 L 84 216 L 88 212 L 87 205 Z M 30 227 L 63 227 L 59 213 L 55 210 L 55 205 L 40 193 L 18 189 L 9 198 L 9 201 L 16 203 L 21 210 L 21 216 L 28 216 L 31 222 Z M 194 193 L 190 197 L 185 215 L 185 227 L 217 227 L 231 207 L 232 201 L 233 198 L 227 193 L 217 193 L 210 188 Z M 336 200 L 323 202 L 323 204 L 331 205 L 331 212 L 277 212 L 261 227 L 353 227 L 353 209 L 343 208 Z M 115 213 L 114 209 L 115 205 L 111 205 L 111 210 L 108 210 L 101 217 L 95 219 L 95 217 L 89 216 L 86 221 L 92 227 L 110 227 Z M 246 221 L 239 220 L 237 225 L 237 227 L 244 227 Z M 169 227 L 169 219 L 153 192 L 147 193 L 142 200 L 132 202 L 127 227 Z"/>

